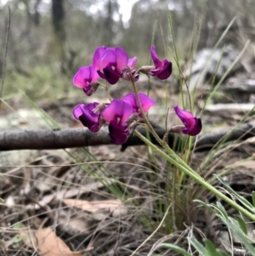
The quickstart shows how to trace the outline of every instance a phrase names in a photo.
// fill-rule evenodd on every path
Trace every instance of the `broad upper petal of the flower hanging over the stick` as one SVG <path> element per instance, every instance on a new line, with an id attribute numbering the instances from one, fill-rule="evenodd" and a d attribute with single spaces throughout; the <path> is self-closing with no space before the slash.
<path id="1" fill-rule="evenodd" d="M 123 100 L 112 100 L 111 104 L 102 111 L 102 117 L 106 122 L 116 121 L 118 123 L 127 122 L 133 114 L 133 107 Z"/>

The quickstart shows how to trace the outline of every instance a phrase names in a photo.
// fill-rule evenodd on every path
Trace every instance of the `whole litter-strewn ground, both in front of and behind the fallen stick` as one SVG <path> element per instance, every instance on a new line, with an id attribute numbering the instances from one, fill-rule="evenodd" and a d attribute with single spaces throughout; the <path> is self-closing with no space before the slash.
<path id="1" fill-rule="evenodd" d="M 246 77 L 247 80 L 251 78 L 249 76 L 243 71 L 235 75 L 235 79 Z M 124 94 L 127 88 L 112 90 L 114 96 Z M 169 125 L 173 125 L 176 120 L 173 105 L 178 103 L 179 98 L 172 89 L 167 88 L 167 92 L 167 107 L 170 107 L 168 120 Z M 240 100 L 242 103 L 252 102 L 251 95 L 247 98 L 243 94 L 241 98 L 238 94 L 238 99 L 245 99 Z M 158 102 L 156 108 L 150 111 L 150 120 L 164 127 L 166 100 L 161 99 L 166 95 L 166 88 L 155 87 L 150 95 Z M 236 94 L 233 95 L 235 98 Z M 229 96 L 221 101 L 225 102 L 226 98 L 229 99 Z M 45 101 L 37 105 L 61 127 L 80 127 L 71 111 L 82 99 L 85 98 L 77 100 L 71 95 L 68 100 L 59 100 L 53 105 Z M 89 100 L 104 101 L 105 98 L 99 96 Z M 27 107 L 24 100 L 20 101 L 15 103 L 10 100 L 9 104 L 16 111 L 20 111 L 18 105 L 22 105 L 27 112 L 14 111 L 10 114 L 8 106 L 2 106 L 2 125 L 4 120 L 6 128 L 46 128 L 42 117 L 31 112 L 31 107 Z M 25 117 L 20 119 L 20 115 Z M 241 117 L 243 113 L 240 111 L 225 115 L 223 111 L 207 111 L 203 119 L 205 133 L 212 128 L 231 126 Z M 254 151 L 252 140 L 228 145 L 207 163 L 203 175 L 210 179 L 212 174 L 230 167 L 231 172 L 225 175 L 225 179 L 235 190 L 250 193 L 255 190 L 254 160 L 251 158 L 237 167 L 233 164 L 252 156 Z M 208 151 L 193 154 L 193 168 L 200 171 L 199 165 L 207 154 Z M 167 163 L 145 146 L 129 147 L 124 152 L 116 145 L 65 151 L 1 152 L 0 161 L 3 200 L 0 205 L 0 247 L 1 255 L 9 256 L 60 255 L 63 252 L 66 255 L 131 255 L 161 222 L 166 208 L 159 211 L 156 206 L 166 195 L 167 184 L 173 182 L 166 171 Z M 195 186 L 187 181 L 187 186 L 192 185 Z M 214 185 L 218 184 L 214 182 Z M 199 189 L 197 187 L 194 191 Z M 206 191 L 202 192 L 201 199 L 216 200 Z M 231 212 L 231 209 L 228 210 Z M 218 236 L 221 226 L 217 220 L 211 219 L 212 216 L 203 210 L 197 214 L 197 205 L 192 203 L 183 211 L 186 215 L 177 230 L 167 233 L 163 226 L 136 255 L 151 255 L 153 245 L 163 241 L 176 242 L 185 247 L 185 237 L 190 236 L 192 230 L 190 227 L 197 234 L 201 230 L 220 247 L 221 242 L 218 241 L 224 238 Z M 173 213 L 169 213 L 167 218 L 171 223 Z"/>

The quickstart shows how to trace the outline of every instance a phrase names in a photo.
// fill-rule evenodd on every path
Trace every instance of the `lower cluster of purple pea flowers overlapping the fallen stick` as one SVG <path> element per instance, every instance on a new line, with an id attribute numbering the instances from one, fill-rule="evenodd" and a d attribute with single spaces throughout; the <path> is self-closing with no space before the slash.
<path id="1" fill-rule="evenodd" d="M 149 111 L 154 100 L 146 94 L 139 93 L 144 112 Z M 130 127 L 133 121 L 141 117 L 135 94 L 127 94 L 122 99 L 112 100 L 110 104 L 99 103 L 79 104 L 73 111 L 74 117 L 91 132 L 96 133 L 105 122 L 109 123 L 109 135 L 116 144 L 123 144 L 130 135 Z"/>

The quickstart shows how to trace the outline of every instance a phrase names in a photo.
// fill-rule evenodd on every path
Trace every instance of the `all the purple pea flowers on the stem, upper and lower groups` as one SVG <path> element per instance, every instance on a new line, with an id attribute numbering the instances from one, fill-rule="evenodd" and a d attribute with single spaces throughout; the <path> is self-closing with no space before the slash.
<path id="1" fill-rule="evenodd" d="M 154 45 L 150 48 L 150 56 L 154 66 L 145 65 L 136 70 L 137 57 L 129 59 L 127 52 L 120 47 L 106 48 L 101 46 L 94 52 L 92 65 L 82 66 L 77 71 L 73 77 L 73 84 L 82 88 L 84 93 L 90 96 L 102 85 L 99 82 L 100 78 L 105 79 L 110 84 L 115 84 L 120 79 L 136 82 L 139 80 L 139 72 L 161 80 L 170 77 L 172 63 L 168 60 L 160 60 Z M 107 83 L 102 86 L 107 87 Z M 143 122 L 143 112 L 149 111 L 153 105 L 155 105 L 155 101 L 146 94 L 130 93 L 122 99 L 111 100 L 110 103 L 79 104 L 75 107 L 73 114 L 93 133 L 97 133 L 105 123 L 108 123 L 112 141 L 116 144 L 123 144 L 133 129 Z M 199 118 L 193 117 L 188 111 L 178 109 L 178 106 L 175 107 L 175 111 L 181 121 L 184 122 L 184 127 L 178 127 L 176 131 L 194 136 L 200 133 L 201 120 Z"/>

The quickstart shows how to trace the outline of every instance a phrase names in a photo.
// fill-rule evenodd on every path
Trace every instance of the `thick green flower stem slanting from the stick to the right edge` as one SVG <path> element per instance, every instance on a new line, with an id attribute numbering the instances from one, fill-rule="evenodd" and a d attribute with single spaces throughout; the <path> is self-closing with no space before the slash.
<path id="1" fill-rule="evenodd" d="M 139 137 L 139 139 L 142 139 L 146 145 L 149 145 L 150 148 L 157 153 L 159 153 L 161 156 L 163 156 L 168 162 L 172 163 L 175 167 L 180 169 L 184 174 L 189 175 L 192 179 L 195 179 L 197 183 L 207 188 L 208 191 L 211 191 L 215 196 L 218 196 L 224 202 L 229 203 L 230 206 L 235 208 L 237 211 L 243 213 L 251 219 L 252 221 L 255 221 L 255 214 L 250 213 L 245 208 L 242 208 L 239 204 L 231 200 L 228 196 L 225 196 L 222 192 L 215 189 L 211 184 L 209 184 L 205 179 L 201 178 L 199 174 L 196 174 L 195 171 L 190 168 L 186 162 L 184 162 L 181 158 L 179 158 L 174 152 L 170 155 L 167 155 L 164 151 L 161 151 L 156 145 L 150 142 L 149 139 L 146 139 L 142 134 L 140 134 L 138 131 L 135 131 L 135 134 Z M 173 151 L 173 150 L 171 150 Z"/>

